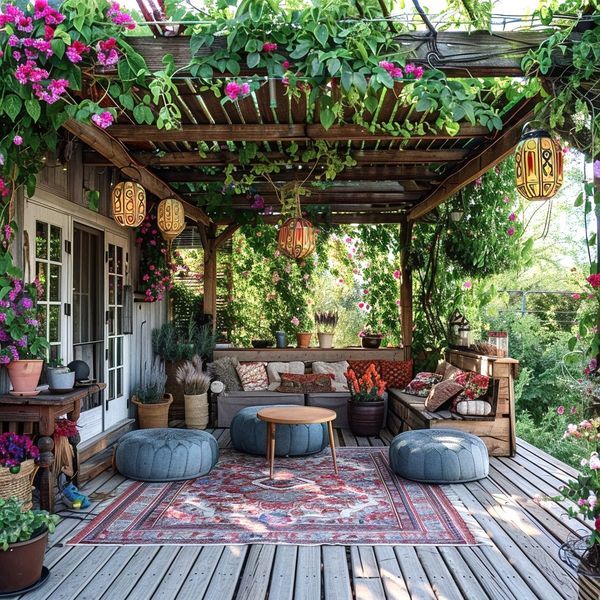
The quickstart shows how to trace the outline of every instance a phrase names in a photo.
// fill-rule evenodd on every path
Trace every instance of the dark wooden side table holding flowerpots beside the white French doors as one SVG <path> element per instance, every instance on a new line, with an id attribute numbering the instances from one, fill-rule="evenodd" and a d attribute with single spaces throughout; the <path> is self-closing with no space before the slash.
<path id="1" fill-rule="evenodd" d="M 57 417 L 67 415 L 72 421 L 79 419 L 81 400 L 102 391 L 105 383 L 75 388 L 66 394 L 40 394 L 39 396 L 0 396 L 0 424 L 9 423 L 9 429 L 17 423 L 37 423 L 40 449 L 40 508 L 54 512 L 54 423 Z"/>

